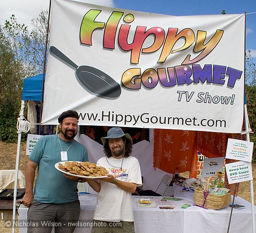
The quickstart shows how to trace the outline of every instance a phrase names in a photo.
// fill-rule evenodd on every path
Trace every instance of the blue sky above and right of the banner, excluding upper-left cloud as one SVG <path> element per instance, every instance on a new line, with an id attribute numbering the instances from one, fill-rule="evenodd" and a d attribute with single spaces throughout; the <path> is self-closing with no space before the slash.
<path id="1" fill-rule="evenodd" d="M 246 15 L 246 50 L 256 59 L 256 1 L 172 1 L 172 0 L 114 0 L 115 7 L 136 11 L 170 14 L 173 16 L 193 16 L 200 14 L 227 14 L 251 13 Z"/>

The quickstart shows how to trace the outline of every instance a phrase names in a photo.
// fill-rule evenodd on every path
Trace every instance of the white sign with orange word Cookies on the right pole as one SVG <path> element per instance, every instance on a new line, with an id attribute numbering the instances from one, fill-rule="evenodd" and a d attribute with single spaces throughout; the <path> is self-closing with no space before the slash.
<path id="1" fill-rule="evenodd" d="M 227 141 L 226 158 L 251 162 L 253 142 L 231 139 Z"/>

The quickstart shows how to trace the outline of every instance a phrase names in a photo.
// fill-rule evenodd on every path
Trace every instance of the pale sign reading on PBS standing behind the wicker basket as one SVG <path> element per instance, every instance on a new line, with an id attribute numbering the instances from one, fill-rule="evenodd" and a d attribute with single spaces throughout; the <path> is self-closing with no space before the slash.
<path id="1" fill-rule="evenodd" d="M 218 171 L 223 171 L 224 157 L 205 158 L 202 177 L 209 177 L 216 174 Z"/>

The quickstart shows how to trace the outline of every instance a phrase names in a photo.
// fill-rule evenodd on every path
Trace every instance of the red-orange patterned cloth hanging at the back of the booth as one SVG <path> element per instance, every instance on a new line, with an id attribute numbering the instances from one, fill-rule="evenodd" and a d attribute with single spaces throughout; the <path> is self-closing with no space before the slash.
<path id="1" fill-rule="evenodd" d="M 240 134 L 212 132 L 194 132 L 188 130 L 154 129 L 153 166 L 168 173 L 190 171 L 190 177 L 197 176 L 197 151 L 208 158 L 224 157 L 228 138 L 245 140 Z M 226 159 L 226 163 L 231 163 Z M 238 186 L 227 184 L 232 193 L 238 192 Z"/>

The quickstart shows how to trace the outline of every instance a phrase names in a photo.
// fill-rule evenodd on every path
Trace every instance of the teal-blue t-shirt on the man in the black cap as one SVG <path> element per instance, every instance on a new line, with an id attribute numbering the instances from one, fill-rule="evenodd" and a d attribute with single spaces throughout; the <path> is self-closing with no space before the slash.
<path id="1" fill-rule="evenodd" d="M 73 145 L 72 143 L 59 139 L 58 135 L 43 136 L 36 143 L 29 156 L 39 167 L 34 188 L 36 201 L 68 203 L 78 199 L 77 182 L 67 179 L 54 167 L 56 163 L 61 162 L 62 150 L 68 150 L 68 161 L 88 161 L 87 149 L 76 140 Z"/>

